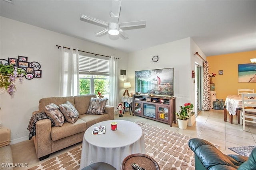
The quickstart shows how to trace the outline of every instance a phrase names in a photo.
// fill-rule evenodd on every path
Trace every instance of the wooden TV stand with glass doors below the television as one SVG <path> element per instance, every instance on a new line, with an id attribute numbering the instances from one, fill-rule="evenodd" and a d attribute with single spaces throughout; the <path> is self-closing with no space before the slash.
<path id="1" fill-rule="evenodd" d="M 168 123 L 170 127 L 176 123 L 175 97 L 134 94 L 132 99 L 133 115 Z"/>

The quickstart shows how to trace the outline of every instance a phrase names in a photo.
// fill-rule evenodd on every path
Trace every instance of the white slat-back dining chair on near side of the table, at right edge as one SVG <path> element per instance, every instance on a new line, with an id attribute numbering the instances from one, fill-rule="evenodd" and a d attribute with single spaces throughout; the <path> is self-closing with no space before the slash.
<path id="1" fill-rule="evenodd" d="M 243 124 L 243 131 L 245 131 L 245 122 L 256 123 L 256 93 L 242 93 L 240 122 Z"/>

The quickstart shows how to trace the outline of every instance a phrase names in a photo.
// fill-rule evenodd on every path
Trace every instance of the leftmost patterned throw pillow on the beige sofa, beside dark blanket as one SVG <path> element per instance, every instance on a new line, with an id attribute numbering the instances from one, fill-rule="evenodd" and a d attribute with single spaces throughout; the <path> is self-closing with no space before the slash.
<path id="1" fill-rule="evenodd" d="M 56 104 L 50 103 L 44 107 L 44 112 L 48 115 L 55 123 L 55 126 L 62 126 L 65 118 L 61 113 L 59 107 Z"/>

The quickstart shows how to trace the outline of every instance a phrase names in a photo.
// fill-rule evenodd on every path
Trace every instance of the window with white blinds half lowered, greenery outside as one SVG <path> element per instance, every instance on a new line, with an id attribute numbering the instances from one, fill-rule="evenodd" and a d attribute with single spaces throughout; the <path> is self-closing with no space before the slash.
<path id="1" fill-rule="evenodd" d="M 79 56 L 80 94 L 100 92 L 109 97 L 109 59 L 106 57 Z"/>

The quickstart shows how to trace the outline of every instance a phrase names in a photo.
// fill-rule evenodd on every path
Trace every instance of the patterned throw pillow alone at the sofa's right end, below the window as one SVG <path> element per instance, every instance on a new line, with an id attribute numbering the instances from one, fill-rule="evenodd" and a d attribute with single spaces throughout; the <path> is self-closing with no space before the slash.
<path id="1" fill-rule="evenodd" d="M 91 98 L 90 105 L 86 114 L 103 115 L 107 100 L 107 98 Z"/>

